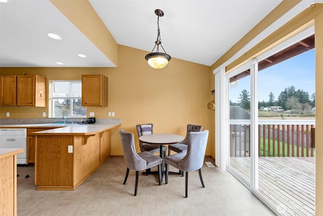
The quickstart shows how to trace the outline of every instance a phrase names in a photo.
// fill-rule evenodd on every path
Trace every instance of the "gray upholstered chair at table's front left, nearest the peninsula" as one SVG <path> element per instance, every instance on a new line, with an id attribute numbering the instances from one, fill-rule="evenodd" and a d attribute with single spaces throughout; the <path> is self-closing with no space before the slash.
<path id="1" fill-rule="evenodd" d="M 130 132 L 125 132 L 123 129 L 121 129 L 119 133 L 127 166 L 126 178 L 123 184 L 125 185 L 127 182 L 129 169 L 136 170 L 136 196 L 138 189 L 139 171 L 158 165 L 158 184 L 161 185 L 161 163 L 163 163 L 163 159 L 147 151 L 136 153 L 134 135 Z"/>

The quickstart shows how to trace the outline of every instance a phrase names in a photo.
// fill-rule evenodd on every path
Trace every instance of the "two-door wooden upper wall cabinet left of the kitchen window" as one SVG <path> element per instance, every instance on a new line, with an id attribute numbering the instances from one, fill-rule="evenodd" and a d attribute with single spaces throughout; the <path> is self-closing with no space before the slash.
<path id="1" fill-rule="evenodd" d="M 46 106 L 46 77 L 39 75 L 2 75 L 2 106 Z"/>

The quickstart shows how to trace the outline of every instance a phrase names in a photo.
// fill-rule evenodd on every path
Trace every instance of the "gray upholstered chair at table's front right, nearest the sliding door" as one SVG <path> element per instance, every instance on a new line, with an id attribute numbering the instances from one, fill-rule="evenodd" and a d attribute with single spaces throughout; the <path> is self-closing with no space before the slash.
<path id="1" fill-rule="evenodd" d="M 203 166 L 208 131 L 189 132 L 187 135 L 187 152 L 180 152 L 167 156 L 165 158 L 166 165 L 166 184 L 168 184 L 169 165 L 185 171 L 185 197 L 187 197 L 188 172 L 198 170 L 202 187 L 204 183 L 202 179 L 201 167 Z"/>

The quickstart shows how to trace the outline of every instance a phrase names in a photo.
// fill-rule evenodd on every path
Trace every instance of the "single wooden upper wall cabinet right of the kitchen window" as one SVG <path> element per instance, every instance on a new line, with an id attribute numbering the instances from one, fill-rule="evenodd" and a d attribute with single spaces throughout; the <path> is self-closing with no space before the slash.
<path id="1" fill-rule="evenodd" d="M 82 106 L 107 107 L 107 77 L 82 75 Z"/>

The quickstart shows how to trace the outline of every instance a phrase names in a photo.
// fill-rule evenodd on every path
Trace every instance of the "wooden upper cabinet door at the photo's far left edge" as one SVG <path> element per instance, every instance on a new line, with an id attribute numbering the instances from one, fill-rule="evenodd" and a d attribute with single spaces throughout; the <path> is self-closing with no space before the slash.
<path id="1" fill-rule="evenodd" d="M 1 106 L 16 106 L 16 75 L 1 76 Z"/>

